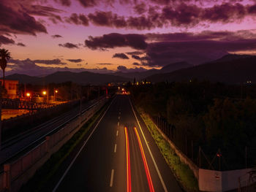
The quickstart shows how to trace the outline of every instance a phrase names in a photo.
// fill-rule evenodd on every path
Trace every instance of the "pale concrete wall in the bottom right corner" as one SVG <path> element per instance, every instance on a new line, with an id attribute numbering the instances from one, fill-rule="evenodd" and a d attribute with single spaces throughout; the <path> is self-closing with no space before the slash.
<path id="1" fill-rule="evenodd" d="M 219 172 L 208 169 L 199 169 L 198 185 L 200 191 L 230 191 L 238 188 L 239 178 L 249 180 L 248 172 L 252 169 L 238 169 L 226 172 Z M 241 183 L 244 187 L 246 182 Z"/>

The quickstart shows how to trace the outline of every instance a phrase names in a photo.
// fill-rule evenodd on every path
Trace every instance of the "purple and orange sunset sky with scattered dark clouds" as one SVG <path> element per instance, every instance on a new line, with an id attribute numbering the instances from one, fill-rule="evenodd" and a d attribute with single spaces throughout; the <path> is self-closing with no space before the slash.
<path id="1" fill-rule="evenodd" d="M 1 0 L 7 74 L 140 72 L 256 53 L 256 0 Z"/>

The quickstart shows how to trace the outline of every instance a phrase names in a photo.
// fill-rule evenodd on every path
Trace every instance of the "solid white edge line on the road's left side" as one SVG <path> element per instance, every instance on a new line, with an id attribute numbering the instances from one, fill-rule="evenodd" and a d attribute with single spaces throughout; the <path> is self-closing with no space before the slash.
<path id="1" fill-rule="evenodd" d="M 104 118 L 106 112 L 108 112 L 108 109 L 110 108 L 111 104 L 113 104 L 113 101 L 115 99 L 113 99 L 110 103 L 110 105 L 108 106 L 107 110 L 104 112 L 104 114 L 102 115 L 102 117 L 99 119 L 97 125 L 94 127 L 94 129 L 91 131 L 91 134 L 89 134 L 89 137 L 86 139 L 86 142 L 83 143 L 83 146 L 80 147 L 80 150 L 78 151 L 78 153 L 75 155 L 75 158 L 73 158 L 71 164 L 69 164 L 69 166 L 67 167 L 66 171 L 64 172 L 64 174 L 62 175 L 61 179 L 59 180 L 59 182 L 57 183 L 57 185 L 55 186 L 55 188 L 53 188 L 53 192 L 55 192 L 57 190 L 57 188 L 59 188 L 59 185 L 61 184 L 61 181 L 64 179 L 64 177 L 66 176 L 67 172 L 69 172 L 69 169 L 71 168 L 71 166 L 74 164 L 75 160 L 78 158 L 78 155 L 80 155 L 81 151 L 83 150 L 83 147 L 86 146 L 86 143 L 89 141 L 89 139 L 91 138 L 91 135 L 94 133 L 95 129 L 97 128 L 97 126 L 99 125 L 100 121 L 102 120 L 102 118 Z"/>

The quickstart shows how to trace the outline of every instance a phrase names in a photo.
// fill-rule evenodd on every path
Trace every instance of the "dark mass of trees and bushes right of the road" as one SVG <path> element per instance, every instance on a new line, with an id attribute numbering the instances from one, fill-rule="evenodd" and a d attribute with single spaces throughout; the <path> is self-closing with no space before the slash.
<path id="1" fill-rule="evenodd" d="M 137 107 L 197 166 L 255 166 L 256 85 L 190 80 L 127 85 Z"/>

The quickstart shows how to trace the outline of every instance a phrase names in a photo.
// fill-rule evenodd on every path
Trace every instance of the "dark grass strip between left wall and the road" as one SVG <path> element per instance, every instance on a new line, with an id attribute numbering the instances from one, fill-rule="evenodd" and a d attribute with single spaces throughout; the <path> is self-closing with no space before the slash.
<path id="1" fill-rule="evenodd" d="M 65 143 L 56 153 L 50 156 L 50 159 L 37 170 L 34 177 L 32 177 L 26 185 L 23 185 L 22 188 L 20 188 L 21 192 L 49 191 L 46 183 L 50 181 L 63 161 L 70 155 L 72 150 L 78 145 L 81 139 L 83 139 L 91 126 L 96 123 L 100 115 L 102 115 L 102 113 L 107 109 L 109 102 L 110 101 L 108 101 L 102 109 L 100 109 L 82 128 L 80 128 L 80 130 L 75 133 L 67 143 Z"/>

